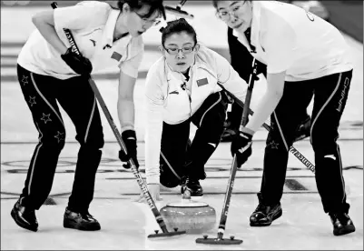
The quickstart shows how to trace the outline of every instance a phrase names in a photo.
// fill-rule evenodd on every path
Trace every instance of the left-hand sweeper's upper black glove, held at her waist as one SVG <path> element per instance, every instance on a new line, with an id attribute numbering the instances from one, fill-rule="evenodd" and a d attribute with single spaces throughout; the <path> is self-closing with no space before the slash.
<path id="1" fill-rule="evenodd" d="M 61 55 L 65 64 L 71 67 L 76 74 L 89 75 L 93 71 L 93 65 L 88 58 L 83 55 L 77 55 L 69 47 L 64 55 Z"/>

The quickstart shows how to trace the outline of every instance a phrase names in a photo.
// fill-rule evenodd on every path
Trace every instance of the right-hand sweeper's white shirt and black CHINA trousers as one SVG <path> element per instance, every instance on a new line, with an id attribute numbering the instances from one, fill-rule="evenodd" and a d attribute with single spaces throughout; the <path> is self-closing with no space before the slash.
<path id="1" fill-rule="evenodd" d="M 323 209 L 330 214 L 348 213 L 336 143 L 353 69 L 343 36 L 318 16 L 276 1 L 253 1 L 251 36 L 247 39 L 236 31 L 234 35 L 267 65 L 268 74 L 286 71 L 283 96 L 271 115 L 260 201 L 266 206 L 279 205 L 276 217 L 280 216 L 289 149 L 314 95 L 310 143 Z M 254 214 L 251 217 L 251 224 L 256 224 Z"/>

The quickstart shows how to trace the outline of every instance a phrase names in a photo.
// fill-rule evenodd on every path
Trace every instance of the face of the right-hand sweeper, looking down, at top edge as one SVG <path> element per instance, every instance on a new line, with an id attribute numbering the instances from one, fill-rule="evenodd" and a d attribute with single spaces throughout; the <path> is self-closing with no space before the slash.
<path id="1" fill-rule="evenodd" d="M 252 5 L 250 1 L 219 1 L 217 15 L 232 29 L 244 32 L 251 26 Z"/>

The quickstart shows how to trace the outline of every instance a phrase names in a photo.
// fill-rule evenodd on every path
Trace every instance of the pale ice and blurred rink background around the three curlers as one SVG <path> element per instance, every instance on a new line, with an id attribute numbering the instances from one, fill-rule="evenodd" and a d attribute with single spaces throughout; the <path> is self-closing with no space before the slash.
<path id="1" fill-rule="evenodd" d="M 10 217 L 11 207 L 23 188 L 25 174 L 29 161 L 33 155 L 34 146 L 38 143 L 38 132 L 35 129 L 32 116 L 25 103 L 16 76 L 16 58 L 27 37 L 34 31 L 32 15 L 51 9 L 54 1 L 0 1 L 1 3 L 1 249 L 97 249 L 112 248 L 124 249 L 155 249 L 171 250 L 182 246 L 183 249 L 202 249 L 196 246 L 194 237 L 187 236 L 180 243 L 180 239 L 171 239 L 165 242 L 152 242 L 146 239 L 144 232 L 152 233 L 155 222 L 149 208 L 140 209 L 132 202 L 140 194 L 133 174 L 125 171 L 118 156 L 120 147 L 115 141 L 105 116 L 102 114 L 103 134 L 105 146 L 103 147 L 103 160 L 97 176 L 97 189 L 93 210 L 95 216 L 100 217 L 103 226 L 108 227 L 93 236 L 83 233 L 65 232 L 60 226 L 64 205 L 70 194 L 75 168 L 75 159 L 79 147 L 75 140 L 74 125 L 63 109 L 60 109 L 66 127 L 66 145 L 60 156 L 57 174 L 54 179 L 52 195 L 57 205 L 43 206 L 42 212 L 37 215 L 42 222 L 42 234 L 32 235 L 20 230 Z M 74 5 L 79 1 L 57 1 L 60 7 Z M 115 5 L 117 1 L 106 1 Z M 349 99 L 339 125 L 339 145 L 343 157 L 344 175 L 348 187 L 349 198 L 352 203 L 350 212 L 357 232 L 343 238 L 333 238 L 330 233 L 330 219 L 320 210 L 320 197 L 314 182 L 313 174 L 303 166 L 300 161 L 290 157 L 287 177 L 290 181 L 299 182 L 307 190 L 298 191 L 285 186 L 282 204 L 284 219 L 277 226 L 270 229 L 251 229 L 247 227 L 248 216 L 256 206 L 261 184 L 263 150 L 267 132 L 261 129 L 254 136 L 254 151 L 249 164 L 239 169 L 237 178 L 239 182 L 234 185 L 234 196 L 237 199 L 231 204 L 229 228 L 235 236 L 244 237 L 244 246 L 251 249 L 358 249 L 363 250 L 363 200 L 362 200 L 362 166 L 363 166 L 363 1 L 285 1 L 310 11 L 332 25 L 339 28 L 350 47 L 354 72 L 349 89 Z M 179 1 L 165 1 L 165 5 L 175 7 Z M 227 26 L 215 15 L 212 1 L 189 0 L 182 7 L 183 10 L 194 15 L 189 20 L 197 32 L 197 38 L 203 45 L 230 60 L 228 47 Z M 168 19 L 174 19 L 168 15 Z M 161 45 L 161 26 L 152 27 L 143 35 L 145 54 L 140 67 L 139 77 L 135 85 L 134 102 L 136 110 L 135 130 L 138 138 L 138 160 L 140 171 L 144 170 L 143 134 L 145 127 L 145 109 L 143 107 L 143 91 L 145 76 L 151 65 L 161 56 L 158 46 Z M 93 75 L 103 99 L 108 106 L 116 126 L 117 118 L 117 76 L 118 68 L 106 69 Z M 52 84 L 52 83 L 50 83 Z M 257 100 L 264 93 L 266 82 L 264 77 L 254 85 L 251 99 L 251 109 L 254 110 Z M 310 114 L 309 107 L 309 114 Z M 193 135 L 192 128 L 192 135 Z M 310 161 L 314 159 L 313 151 L 308 138 L 301 140 L 295 146 L 303 156 Z M 217 216 L 220 215 L 221 201 L 226 189 L 226 180 L 230 174 L 231 154 L 230 144 L 221 143 L 207 163 L 208 179 L 202 186 L 207 196 L 206 202 L 214 206 Z M 293 190 L 292 190 L 293 189 Z M 164 202 L 176 199 L 179 190 L 162 190 Z M 239 198 L 239 199 L 238 199 Z M 129 206 L 129 207 L 128 207 Z M 284 209 L 286 210 L 286 209 Z M 117 212 L 115 217 L 113 213 Z M 351 213 L 350 213 L 351 214 Z M 244 220 L 244 218 L 246 220 Z M 134 220 L 137 219 L 138 221 Z M 47 226 L 48 225 L 48 226 Z M 124 227 L 127 226 L 127 227 Z M 314 226 L 314 227 L 313 227 Z M 44 227 L 44 228 L 43 228 Z M 46 228 L 48 227 L 48 228 Z M 154 227 L 154 228 L 152 228 Z M 280 228 L 280 231 L 278 229 Z M 148 229 L 144 231 L 144 229 Z M 315 229 L 315 230 L 313 230 Z M 212 231 L 215 235 L 215 230 Z M 211 234 L 212 234 L 211 233 Z M 29 235 L 28 235 L 29 234 Z M 54 235 L 55 234 L 55 235 Z M 49 236 L 49 238 L 48 238 Z M 200 236 L 199 236 L 200 237 Z M 72 239 L 73 241 L 70 241 Z M 187 241 L 189 240 L 189 241 Z M 223 250 L 229 247 L 216 246 Z M 207 247 L 213 249 L 213 247 Z"/>

